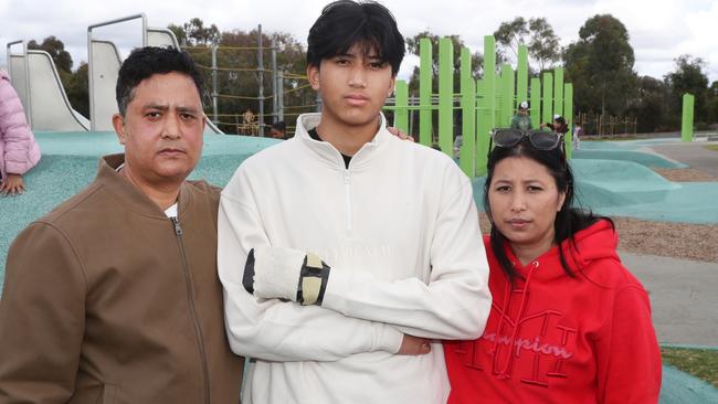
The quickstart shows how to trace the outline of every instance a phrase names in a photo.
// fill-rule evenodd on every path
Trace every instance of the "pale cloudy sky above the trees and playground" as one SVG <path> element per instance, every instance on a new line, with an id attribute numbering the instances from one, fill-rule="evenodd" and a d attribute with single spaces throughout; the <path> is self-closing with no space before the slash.
<path id="1" fill-rule="evenodd" d="M 220 31 L 288 32 L 306 44 L 309 28 L 328 0 L 201 0 L 201 1 L 70 1 L 0 0 L 0 66 L 7 64 L 7 43 L 55 35 L 72 54 L 74 67 L 87 60 L 87 26 L 145 13 L 150 26 L 182 24 L 197 17 Z M 662 79 L 675 70 L 683 54 L 701 57 L 710 82 L 718 81 L 718 24 L 716 0 L 384 0 L 405 38 L 429 30 L 458 34 L 472 52 L 483 52 L 484 35 L 516 17 L 547 18 L 562 46 L 579 39 L 579 29 L 595 14 L 610 13 L 626 26 L 640 75 Z M 97 29 L 95 34 L 116 40 L 123 56 L 140 44 L 139 20 Z M 408 56 L 399 73 L 409 77 L 418 57 Z"/>

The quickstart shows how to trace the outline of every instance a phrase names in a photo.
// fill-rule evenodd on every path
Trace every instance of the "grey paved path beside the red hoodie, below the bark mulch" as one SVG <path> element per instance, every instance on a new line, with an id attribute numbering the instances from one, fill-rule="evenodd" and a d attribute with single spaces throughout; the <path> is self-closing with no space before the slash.
<path id="1" fill-rule="evenodd" d="M 718 263 L 620 255 L 648 290 L 658 342 L 718 347 Z"/>

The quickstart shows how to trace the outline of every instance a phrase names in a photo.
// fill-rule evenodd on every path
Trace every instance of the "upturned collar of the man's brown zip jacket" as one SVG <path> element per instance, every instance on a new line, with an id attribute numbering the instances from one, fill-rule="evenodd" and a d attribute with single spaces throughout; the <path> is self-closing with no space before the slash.
<path id="1" fill-rule="evenodd" d="M 167 219 L 165 212 L 152 200 L 117 172 L 117 168 L 124 162 L 124 153 L 104 156 L 99 160 L 99 168 L 95 181 L 106 187 L 129 210 L 146 216 Z M 178 213 L 181 217 L 192 202 L 192 194 L 187 181 L 183 181 L 180 185 L 178 201 Z"/>

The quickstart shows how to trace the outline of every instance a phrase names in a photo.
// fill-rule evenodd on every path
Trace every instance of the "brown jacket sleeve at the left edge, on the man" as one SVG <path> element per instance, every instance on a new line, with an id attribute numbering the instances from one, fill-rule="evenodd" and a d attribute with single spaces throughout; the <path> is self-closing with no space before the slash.
<path id="1" fill-rule="evenodd" d="M 74 391 L 86 284 L 71 243 L 33 223 L 8 253 L 0 300 L 0 403 L 64 403 Z"/>

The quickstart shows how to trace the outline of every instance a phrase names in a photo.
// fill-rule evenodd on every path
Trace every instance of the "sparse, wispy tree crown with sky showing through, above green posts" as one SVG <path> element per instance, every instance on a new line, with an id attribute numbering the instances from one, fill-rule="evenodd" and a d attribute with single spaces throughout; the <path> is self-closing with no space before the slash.
<path id="1" fill-rule="evenodd" d="M 529 61 L 537 64 L 536 72 L 553 67 L 561 60 L 561 46 L 553 28 L 545 18 L 526 21 L 517 17 L 513 21 L 501 22 L 494 32 L 498 45 L 498 62 L 508 62 L 518 57 L 518 46 L 527 45 Z"/>

